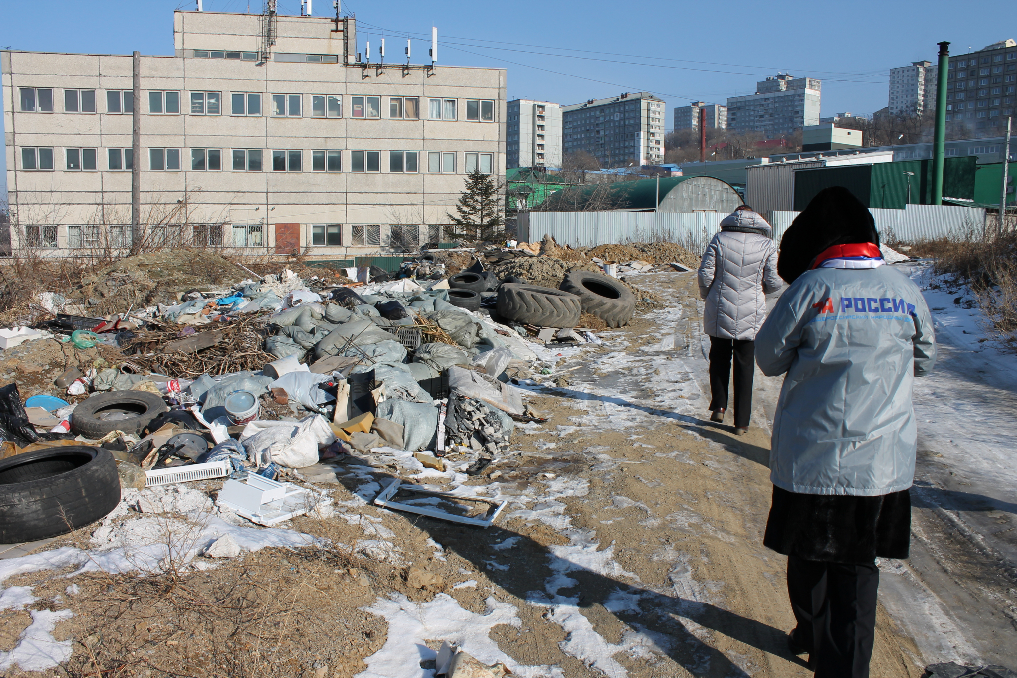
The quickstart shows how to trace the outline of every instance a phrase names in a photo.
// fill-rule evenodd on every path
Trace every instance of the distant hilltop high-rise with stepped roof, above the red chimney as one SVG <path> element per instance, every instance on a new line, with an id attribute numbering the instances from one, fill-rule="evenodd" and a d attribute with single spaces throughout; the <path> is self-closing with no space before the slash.
<path id="1" fill-rule="evenodd" d="M 727 100 L 727 128 L 767 138 L 820 122 L 822 80 L 778 73 L 756 83 L 756 94 Z"/>

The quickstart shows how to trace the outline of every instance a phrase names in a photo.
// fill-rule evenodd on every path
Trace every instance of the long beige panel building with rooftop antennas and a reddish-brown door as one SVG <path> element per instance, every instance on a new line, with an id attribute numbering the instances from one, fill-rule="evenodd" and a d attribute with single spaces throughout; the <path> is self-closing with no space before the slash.
<path id="1" fill-rule="evenodd" d="M 359 61 L 353 18 L 177 11 L 174 42 L 0 53 L 15 249 L 129 246 L 136 168 L 148 243 L 410 251 L 504 171 L 503 69 Z"/>

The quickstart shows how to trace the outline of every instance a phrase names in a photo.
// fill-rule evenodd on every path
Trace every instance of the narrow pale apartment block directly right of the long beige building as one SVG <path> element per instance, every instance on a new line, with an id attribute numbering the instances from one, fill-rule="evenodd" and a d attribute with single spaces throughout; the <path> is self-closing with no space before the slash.
<path id="1" fill-rule="evenodd" d="M 505 169 L 560 168 L 561 106 L 515 99 L 505 112 Z"/>

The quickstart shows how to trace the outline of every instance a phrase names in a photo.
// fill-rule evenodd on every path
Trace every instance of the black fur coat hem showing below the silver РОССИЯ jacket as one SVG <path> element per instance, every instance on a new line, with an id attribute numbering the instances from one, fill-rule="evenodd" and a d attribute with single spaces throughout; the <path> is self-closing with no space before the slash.
<path id="1" fill-rule="evenodd" d="M 763 544 L 785 556 L 849 565 L 906 558 L 910 491 L 855 497 L 798 494 L 774 486 Z"/>

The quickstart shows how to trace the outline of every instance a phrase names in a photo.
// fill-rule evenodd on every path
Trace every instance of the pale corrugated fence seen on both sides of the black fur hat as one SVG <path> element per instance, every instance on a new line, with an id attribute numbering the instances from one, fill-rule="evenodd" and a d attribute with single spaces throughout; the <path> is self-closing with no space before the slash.
<path id="1" fill-rule="evenodd" d="M 985 210 L 981 207 L 909 204 L 905 209 L 872 207 L 869 211 L 876 220 L 876 230 L 883 237 L 892 231 L 894 239 L 903 242 L 968 234 L 980 238 L 985 226 Z M 799 213 L 771 211 L 767 221 L 773 227 L 773 239 L 779 243 L 784 231 Z"/>

